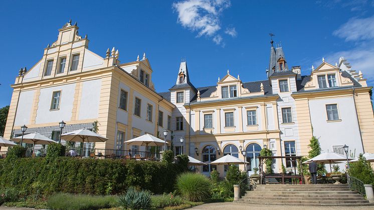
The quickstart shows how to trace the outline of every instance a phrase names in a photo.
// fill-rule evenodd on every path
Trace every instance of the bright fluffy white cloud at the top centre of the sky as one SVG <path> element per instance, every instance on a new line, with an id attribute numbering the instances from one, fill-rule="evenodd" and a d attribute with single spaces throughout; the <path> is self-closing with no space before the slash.
<path id="1" fill-rule="evenodd" d="M 220 16 L 231 5 L 229 0 L 184 0 L 173 3 L 173 9 L 178 13 L 178 23 L 183 27 L 198 32 L 197 37 L 212 37 L 217 44 L 223 41 L 217 35 L 221 30 Z"/>

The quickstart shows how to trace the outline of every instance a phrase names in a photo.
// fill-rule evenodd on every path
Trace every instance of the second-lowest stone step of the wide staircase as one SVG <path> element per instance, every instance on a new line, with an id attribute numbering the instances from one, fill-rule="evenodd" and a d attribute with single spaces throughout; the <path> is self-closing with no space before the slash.
<path id="1" fill-rule="evenodd" d="M 311 197 L 311 196 L 297 196 L 302 200 L 365 200 L 362 196 L 324 196 L 324 197 Z M 272 199 L 272 200 L 294 200 L 295 196 L 242 196 L 242 199 L 259 200 L 259 199 Z"/>

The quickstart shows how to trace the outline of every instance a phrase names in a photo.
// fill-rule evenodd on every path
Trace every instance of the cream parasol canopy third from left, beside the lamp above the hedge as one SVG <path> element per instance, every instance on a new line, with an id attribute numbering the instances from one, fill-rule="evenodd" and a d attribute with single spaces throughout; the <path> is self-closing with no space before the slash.
<path id="1" fill-rule="evenodd" d="M 108 140 L 104 136 L 101 136 L 93 131 L 87 129 L 75 130 L 67 132 L 61 135 L 61 139 L 65 141 L 76 141 L 76 142 L 105 142 Z"/>

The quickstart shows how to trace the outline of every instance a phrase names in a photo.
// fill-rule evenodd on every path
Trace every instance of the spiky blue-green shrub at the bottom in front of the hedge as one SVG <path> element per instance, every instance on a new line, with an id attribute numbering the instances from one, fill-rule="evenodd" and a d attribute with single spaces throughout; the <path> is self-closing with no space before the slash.
<path id="1" fill-rule="evenodd" d="M 126 209 L 149 209 L 151 202 L 150 191 L 137 190 L 133 186 L 130 186 L 125 194 L 118 197 L 119 205 Z"/>

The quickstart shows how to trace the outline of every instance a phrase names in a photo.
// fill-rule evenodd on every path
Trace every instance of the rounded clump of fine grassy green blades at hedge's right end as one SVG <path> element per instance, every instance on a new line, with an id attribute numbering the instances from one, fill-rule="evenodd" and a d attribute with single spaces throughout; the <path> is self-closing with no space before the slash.
<path id="1" fill-rule="evenodd" d="M 199 173 L 183 173 L 176 179 L 177 191 L 190 201 L 203 201 L 210 197 L 212 182 Z"/>

